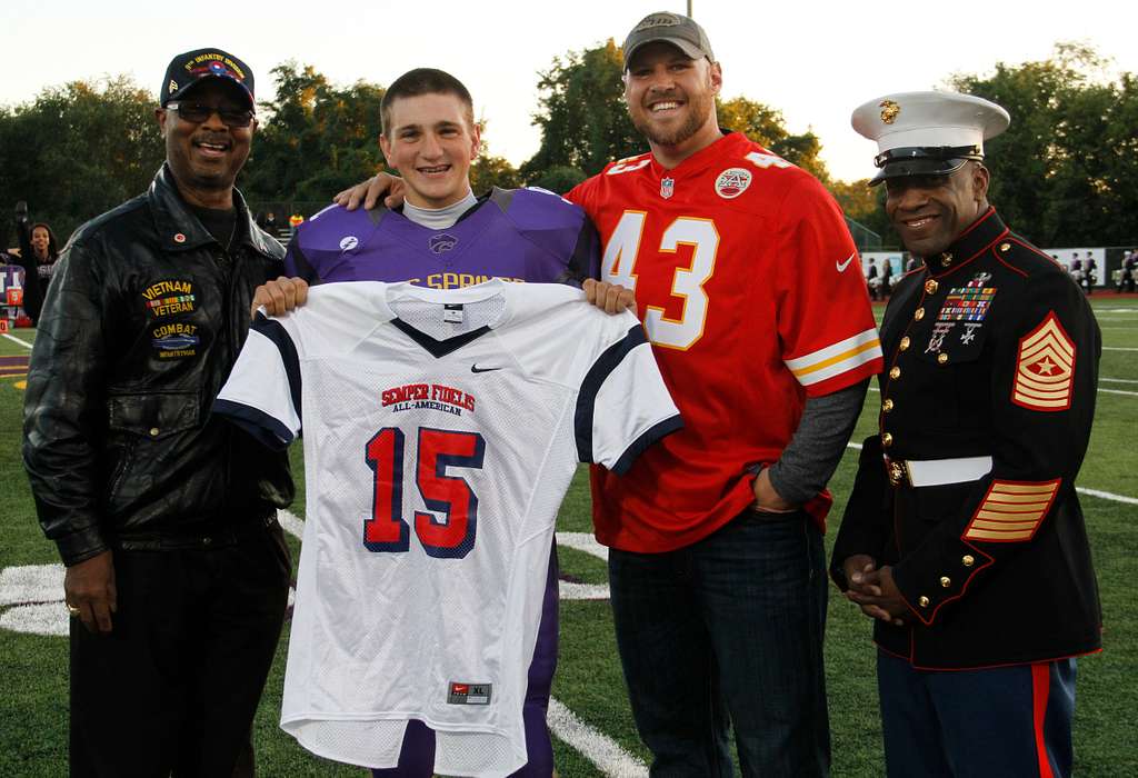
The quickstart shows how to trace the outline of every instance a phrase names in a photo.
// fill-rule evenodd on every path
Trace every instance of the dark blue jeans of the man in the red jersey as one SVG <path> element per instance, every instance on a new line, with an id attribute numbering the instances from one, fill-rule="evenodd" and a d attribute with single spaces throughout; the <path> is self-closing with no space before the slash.
<path id="1" fill-rule="evenodd" d="M 825 776 L 822 535 L 802 512 L 748 510 L 691 546 L 612 549 L 617 646 L 651 775 Z"/>

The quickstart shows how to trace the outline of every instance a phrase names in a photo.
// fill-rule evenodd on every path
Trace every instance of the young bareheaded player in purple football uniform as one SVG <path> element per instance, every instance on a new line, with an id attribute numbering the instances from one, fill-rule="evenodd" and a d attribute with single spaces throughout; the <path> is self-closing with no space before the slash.
<path id="1" fill-rule="evenodd" d="M 437 289 L 492 278 L 580 284 L 599 272 L 596 231 L 575 205 L 531 189 L 493 189 L 476 197 L 470 165 L 479 132 L 467 88 L 432 68 L 391 83 L 381 104 L 380 147 L 404 182 L 402 207 L 349 212 L 330 206 L 297 230 L 286 273 L 257 289 L 254 306 L 280 314 L 303 305 L 307 284 L 410 281 Z M 529 667 L 523 718 L 529 762 L 517 776 L 547 777 L 553 750 L 545 713 L 556 667 L 558 563 L 550 556 L 537 645 Z M 430 776 L 435 735 L 412 721 L 398 765 L 374 776 Z"/>

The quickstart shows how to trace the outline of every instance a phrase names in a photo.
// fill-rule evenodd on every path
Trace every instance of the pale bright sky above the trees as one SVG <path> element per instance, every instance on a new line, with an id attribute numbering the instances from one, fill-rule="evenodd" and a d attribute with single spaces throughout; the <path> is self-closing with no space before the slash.
<path id="1" fill-rule="evenodd" d="M 1046 59 L 1057 41 L 1094 47 L 1105 73 L 1138 73 L 1138 7 L 1125 0 L 914 2 L 692 0 L 724 71 L 724 98 L 782 111 L 791 132 L 815 132 L 831 174 L 873 175 L 876 144 L 850 129 L 860 104 L 893 92 L 943 88 L 955 73 Z M 1131 10 L 1124 10 L 1130 7 Z M 258 99 L 269 71 L 294 59 L 336 84 L 389 84 L 413 67 L 457 76 L 487 122 L 489 152 L 519 165 L 537 150 L 538 73 L 555 56 L 624 41 L 655 10 L 684 1 L 490 0 L 484 3 L 163 3 L 147 0 L 5 0 L 0 41 L 8 65 L 0 104 L 31 101 L 46 86 L 129 74 L 157 92 L 170 59 L 220 47 L 253 68 Z M 263 76 L 263 77 L 261 77 Z M 1015 121 L 1015 117 L 1012 117 Z"/>

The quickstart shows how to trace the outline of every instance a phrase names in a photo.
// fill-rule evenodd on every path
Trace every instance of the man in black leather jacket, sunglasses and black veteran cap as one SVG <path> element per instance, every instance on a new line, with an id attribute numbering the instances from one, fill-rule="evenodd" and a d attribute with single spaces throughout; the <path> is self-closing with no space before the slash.
<path id="1" fill-rule="evenodd" d="M 24 462 L 67 566 L 73 776 L 251 771 L 294 490 L 283 455 L 209 407 L 284 254 L 233 188 L 253 85 L 217 49 L 171 61 L 166 164 L 80 227 L 41 315 Z"/>

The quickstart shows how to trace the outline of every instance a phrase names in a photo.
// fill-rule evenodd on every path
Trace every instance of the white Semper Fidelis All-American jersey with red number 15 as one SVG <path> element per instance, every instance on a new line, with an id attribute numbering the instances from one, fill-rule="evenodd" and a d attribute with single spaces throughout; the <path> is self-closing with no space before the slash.
<path id="1" fill-rule="evenodd" d="M 215 405 L 278 446 L 307 505 L 281 726 L 330 759 L 526 762 L 522 698 L 558 506 L 578 461 L 624 472 L 681 425 L 643 330 L 580 290 L 312 289 L 258 317 Z"/>

